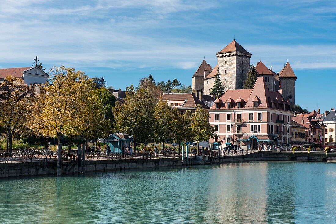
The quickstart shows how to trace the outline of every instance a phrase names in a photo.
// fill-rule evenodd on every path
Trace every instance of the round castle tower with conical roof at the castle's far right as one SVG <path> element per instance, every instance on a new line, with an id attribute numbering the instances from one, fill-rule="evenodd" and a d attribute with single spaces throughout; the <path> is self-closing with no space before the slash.
<path id="1" fill-rule="evenodd" d="M 279 73 L 280 80 L 280 89 L 279 91 L 282 93 L 284 98 L 290 102 L 292 106 L 295 104 L 295 81 L 297 77 L 295 76 L 293 69 L 289 62 Z"/>

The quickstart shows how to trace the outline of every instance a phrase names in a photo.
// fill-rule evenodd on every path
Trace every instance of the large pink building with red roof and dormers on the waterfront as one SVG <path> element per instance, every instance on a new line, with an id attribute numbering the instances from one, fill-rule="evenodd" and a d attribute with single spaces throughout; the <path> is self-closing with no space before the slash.
<path id="1" fill-rule="evenodd" d="M 215 127 L 220 147 L 239 144 L 242 148 L 291 144 L 292 110 L 280 92 L 268 90 L 265 77 L 259 75 L 253 89 L 227 90 L 209 109 L 210 125 Z M 265 148 L 266 149 L 266 148 Z"/>

